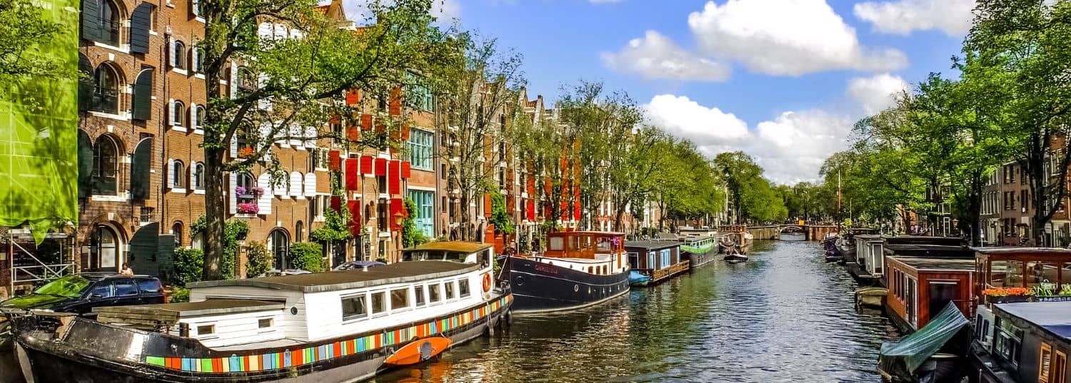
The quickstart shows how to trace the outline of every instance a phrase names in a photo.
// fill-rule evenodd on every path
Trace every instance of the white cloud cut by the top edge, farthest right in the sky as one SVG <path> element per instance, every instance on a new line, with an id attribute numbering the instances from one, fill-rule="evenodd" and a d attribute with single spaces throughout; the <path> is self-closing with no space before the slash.
<path id="1" fill-rule="evenodd" d="M 939 29 L 960 36 L 970 30 L 975 0 L 897 0 L 862 2 L 855 5 L 856 17 L 874 25 L 874 31 L 910 34 L 914 30 Z"/>

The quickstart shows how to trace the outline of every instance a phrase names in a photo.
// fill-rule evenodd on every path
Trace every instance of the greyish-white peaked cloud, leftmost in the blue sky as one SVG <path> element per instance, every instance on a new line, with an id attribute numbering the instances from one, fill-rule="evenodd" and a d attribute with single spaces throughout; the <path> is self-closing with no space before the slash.
<path id="1" fill-rule="evenodd" d="M 726 64 L 681 49 L 655 31 L 647 31 L 643 37 L 629 41 L 616 53 L 603 52 L 602 60 L 610 70 L 638 74 L 644 78 L 724 81 L 731 71 Z"/>

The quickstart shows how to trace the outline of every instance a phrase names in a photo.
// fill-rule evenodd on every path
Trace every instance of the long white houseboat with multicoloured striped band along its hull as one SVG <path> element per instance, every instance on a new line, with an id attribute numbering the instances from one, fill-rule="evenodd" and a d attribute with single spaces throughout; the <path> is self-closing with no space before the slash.
<path id="1" fill-rule="evenodd" d="M 190 284 L 191 303 L 12 313 L 22 370 L 49 382 L 351 382 L 508 319 L 491 245 L 436 242 L 358 270 Z"/>

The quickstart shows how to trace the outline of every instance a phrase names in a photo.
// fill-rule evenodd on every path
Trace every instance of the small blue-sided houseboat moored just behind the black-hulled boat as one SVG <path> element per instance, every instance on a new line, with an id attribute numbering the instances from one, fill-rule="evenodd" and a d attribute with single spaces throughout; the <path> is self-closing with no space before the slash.
<path id="1" fill-rule="evenodd" d="M 643 285 L 654 285 L 674 275 L 687 272 L 689 261 L 681 257 L 679 242 L 628 241 L 624 251 L 629 254 L 629 266 L 633 271 L 650 277 Z"/>

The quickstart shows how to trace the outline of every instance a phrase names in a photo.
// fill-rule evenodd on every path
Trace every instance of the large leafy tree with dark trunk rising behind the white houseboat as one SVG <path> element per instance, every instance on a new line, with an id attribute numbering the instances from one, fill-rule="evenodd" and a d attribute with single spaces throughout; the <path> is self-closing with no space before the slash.
<path id="1" fill-rule="evenodd" d="M 262 167 L 283 182 L 272 142 L 311 140 L 338 133 L 319 132 L 331 116 L 351 118 L 378 101 L 391 99 L 404 83 L 406 68 L 433 66 L 447 40 L 432 26 L 432 0 L 369 1 L 368 18 L 361 29 L 344 20 L 328 19 L 312 0 L 232 1 L 201 0 L 205 39 L 197 43 L 203 61 L 209 99 L 205 114 L 205 278 L 218 279 L 225 271 L 224 244 L 228 172 Z M 268 28 L 260 28 L 267 24 Z M 277 25 L 281 28 L 274 28 Z M 261 35 L 259 31 L 288 30 L 288 35 Z M 232 73 L 235 78 L 225 74 Z M 231 94 L 221 88 L 230 80 Z M 359 105 L 347 105 L 344 93 L 360 89 Z M 362 135 L 361 145 L 384 147 L 388 131 L 404 124 L 389 111 L 375 109 L 380 133 Z M 356 123 L 351 121 L 350 123 Z M 308 127 L 312 128 L 308 128 Z M 252 153 L 231 153 L 239 139 Z"/>

